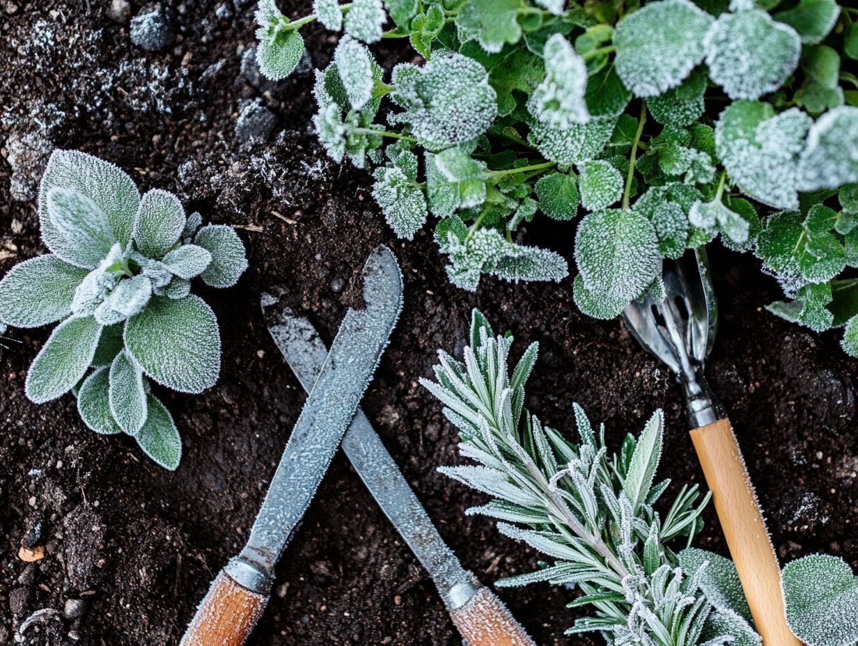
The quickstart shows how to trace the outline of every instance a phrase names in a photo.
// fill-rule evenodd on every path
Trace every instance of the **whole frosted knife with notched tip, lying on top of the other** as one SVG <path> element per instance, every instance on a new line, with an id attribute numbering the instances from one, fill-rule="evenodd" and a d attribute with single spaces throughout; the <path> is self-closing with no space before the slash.
<path id="1" fill-rule="evenodd" d="M 215 578 L 181 646 L 240 646 L 268 603 L 274 568 L 328 469 L 402 309 L 402 274 L 384 246 L 363 269 L 350 309 L 283 450 L 251 536 Z"/>

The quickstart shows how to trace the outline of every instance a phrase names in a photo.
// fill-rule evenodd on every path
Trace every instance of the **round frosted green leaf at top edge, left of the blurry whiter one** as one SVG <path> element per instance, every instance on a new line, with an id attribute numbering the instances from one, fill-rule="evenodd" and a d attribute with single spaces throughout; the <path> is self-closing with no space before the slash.
<path id="1" fill-rule="evenodd" d="M 625 16 L 613 33 L 617 74 L 636 96 L 678 86 L 703 60 L 712 16 L 689 0 L 660 0 Z"/>

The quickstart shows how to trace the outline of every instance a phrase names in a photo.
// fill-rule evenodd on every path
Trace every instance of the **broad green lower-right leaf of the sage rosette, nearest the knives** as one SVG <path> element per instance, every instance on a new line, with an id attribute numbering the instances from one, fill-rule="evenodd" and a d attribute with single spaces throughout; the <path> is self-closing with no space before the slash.
<path id="1" fill-rule="evenodd" d="M 215 313 L 197 296 L 154 297 L 125 324 L 125 348 L 154 381 L 184 393 L 211 388 L 221 371 Z"/>

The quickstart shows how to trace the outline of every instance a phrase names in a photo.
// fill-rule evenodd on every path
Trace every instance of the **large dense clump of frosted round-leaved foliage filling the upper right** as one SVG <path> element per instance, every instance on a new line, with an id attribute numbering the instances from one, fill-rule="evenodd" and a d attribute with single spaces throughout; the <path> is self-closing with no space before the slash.
<path id="1" fill-rule="evenodd" d="M 858 355 L 858 282 L 838 278 L 858 266 L 854 9 L 317 0 L 313 10 L 290 20 L 274 0 L 259 4 L 263 72 L 281 78 L 298 63 L 308 22 L 345 29 L 317 72 L 319 139 L 372 171 L 397 235 L 437 219 L 457 285 L 562 279 L 562 257 L 522 243 L 542 216 L 578 220 L 575 299 L 610 318 L 658 292 L 662 258 L 718 237 L 781 281 L 791 300 L 770 311 L 845 325 L 843 347 Z M 382 38 L 408 39 L 425 62 L 387 75 L 364 45 Z"/>

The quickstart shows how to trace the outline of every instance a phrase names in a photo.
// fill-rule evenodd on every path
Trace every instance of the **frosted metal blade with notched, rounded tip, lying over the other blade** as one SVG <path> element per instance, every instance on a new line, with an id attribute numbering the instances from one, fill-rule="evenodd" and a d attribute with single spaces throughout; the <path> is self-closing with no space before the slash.
<path id="1" fill-rule="evenodd" d="M 273 571 L 304 516 L 402 310 L 402 274 L 387 247 L 372 252 L 363 280 L 366 309 L 349 310 L 343 318 L 239 554 L 239 561 L 257 571 Z"/>

